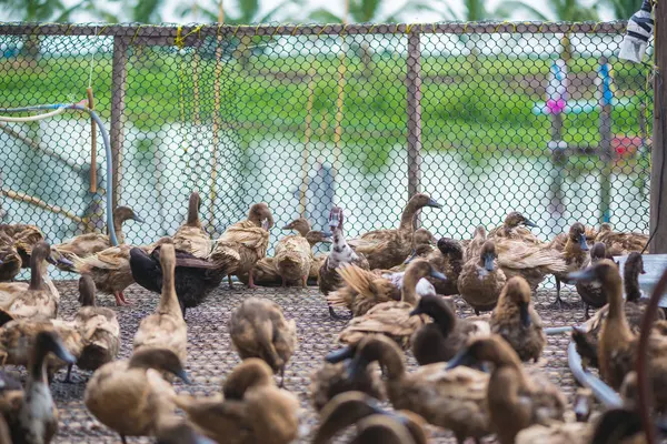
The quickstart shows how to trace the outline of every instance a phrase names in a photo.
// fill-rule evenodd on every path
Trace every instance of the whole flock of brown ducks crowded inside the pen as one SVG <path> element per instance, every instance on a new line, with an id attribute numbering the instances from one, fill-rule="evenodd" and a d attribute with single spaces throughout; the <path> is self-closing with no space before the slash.
<path id="1" fill-rule="evenodd" d="M 640 251 L 646 236 L 599 231 L 581 223 L 551 242 L 540 241 L 532 222 L 518 212 L 470 240 L 437 240 L 415 229 L 424 208 L 441 206 L 426 194 L 408 202 L 400 224 L 346 240 L 344 211 L 334 208 L 328 231 L 315 231 L 305 219 L 278 241 L 267 256 L 273 216 L 266 203 L 250 206 L 248 218 L 212 241 L 199 220 L 199 195 L 189 200 L 188 218 L 178 231 L 150 245 L 123 242 L 122 224 L 140 221 L 121 206 L 113 213 L 121 244 L 109 236 L 83 234 L 58 245 L 44 242 L 32 225 L 0 225 L 0 356 L 3 365 L 24 365 L 24 387 L 0 372 L 0 443 L 49 443 L 58 411 L 49 382 L 72 365 L 92 371 L 84 403 L 107 427 L 126 436 L 155 436 L 160 443 L 271 443 L 299 435 L 299 403 L 283 387 L 283 372 L 297 345 L 293 320 L 267 299 L 248 297 L 232 312 L 228 330 L 242 362 L 215 396 L 177 394 L 171 383 L 186 374 L 186 311 L 231 276 L 256 285 L 302 285 L 316 280 L 329 315 L 351 319 L 313 372 L 310 398 L 320 414 L 313 443 L 330 442 L 357 425 L 354 443 L 420 444 L 426 424 L 454 433 L 457 441 L 496 434 L 509 443 L 616 443 L 637 438 L 637 332 L 645 304 L 638 287 Z M 328 254 L 312 246 L 330 243 Z M 613 255 L 629 254 L 620 278 Z M 48 263 L 77 272 L 81 307 L 74 319 L 58 319 L 60 295 L 49 280 Z M 29 283 L 12 282 L 29 268 Z M 548 276 L 576 284 L 589 307 L 600 309 L 574 340 L 587 365 L 625 395 L 623 411 L 586 422 L 586 393 L 576 416 L 566 422 L 566 401 L 548 381 L 531 376 L 524 362 L 542 356 L 546 335 L 532 293 Z M 120 325 L 116 312 L 96 305 L 97 292 L 130 304 L 123 291 L 132 283 L 160 293 L 153 314 L 133 337 L 133 352 L 118 360 Z M 624 287 L 626 297 L 624 299 Z M 460 296 L 476 315 L 456 316 L 448 296 Z M 482 313 L 482 312 L 490 312 Z M 664 319 L 663 312 L 656 314 Z M 649 344 L 655 408 L 667 406 L 667 321 L 656 321 Z M 419 369 L 408 372 L 405 351 Z M 273 374 L 281 374 L 278 384 Z M 77 383 L 74 381 L 74 383 Z M 382 402 L 389 401 L 394 411 Z M 176 414 L 180 408 L 186 416 Z M 630 442 L 630 441 L 627 441 Z M 640 441 L 633 441 L 640 442 Z"/>

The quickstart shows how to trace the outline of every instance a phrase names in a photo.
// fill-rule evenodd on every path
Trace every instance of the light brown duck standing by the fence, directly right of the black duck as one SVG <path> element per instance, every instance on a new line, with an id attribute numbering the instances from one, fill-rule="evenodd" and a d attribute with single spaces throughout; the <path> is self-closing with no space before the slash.
<path id="1" fill-rule="evenodd" d="M 255 264 L 267 255 L 269 230 L 273 215 L 269 205 L 256 203 L 250 206 L 248 219 L 228 228 L 215 243 L 209 260 L 231 274 L 248 274 L 248 286 L 253 289 Z M 230 278 L 231 284 L 231 278 Z"/>

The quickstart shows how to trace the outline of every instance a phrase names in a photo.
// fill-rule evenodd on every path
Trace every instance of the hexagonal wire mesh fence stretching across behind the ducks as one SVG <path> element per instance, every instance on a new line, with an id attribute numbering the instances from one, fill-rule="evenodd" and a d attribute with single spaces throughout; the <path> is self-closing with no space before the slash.
<path id="1" fill-rule="evenodd" d="M 290 27 L 0 26 L 0 105 L 72 102 L 92 87 L 116 155 L 113 199 L 148 243 L 198 189 L 211 234 L 266 201 L 277 228 L 349 236 L 396 226 L 409 194 L 444 204 L 421 224 L 469 238 L 512 210 L 542 239 L 575 221 L 648 231 L 649 67 L 617 58 L 625 24 Z M 51 242 L 100 230 L 91 125 L 61 114 L 0 123 L 0 212 Z M 99 139 L 99 138 L 98 138 Z"/>

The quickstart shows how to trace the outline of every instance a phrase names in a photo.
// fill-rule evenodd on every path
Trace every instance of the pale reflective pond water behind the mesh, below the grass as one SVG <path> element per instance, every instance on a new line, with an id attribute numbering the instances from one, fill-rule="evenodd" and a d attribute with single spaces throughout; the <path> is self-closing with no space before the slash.
<path id="1" fill-rule="evenodd" d="M 88 121 L 71 119 L 21 128 L 21 133 L 57 151 L 61 160 L 0 133 L 2 190 L 37 196 L 78 215 L 83 215 L 87 209 L 103 208 L 103 195 L 88 192 L 89 128 Z M 306 158 L 303 143 L 282 134 L 251 142 L 243 149 L 235 133 L 221 131 L 215 190 L 211 190 L 210 128 L 170 124 L 147 132 L 127 123 L 126 132 L 120 202 L 136 209 L 146 220 L 143 224 L 128 222 L 127 240 L 135 244 L 173 233 L 186 216 L 188 194 L 193 188 L 203 198 L 202 219 L 216 232 L 242 219 L 252 202 L 268 202 L 277 222 L 271 232 L 273 240 L 281 235 L 280 226 L 300 214 L 305 175 L 309 182 L 306 212 L 316 228 L 326 224 L 334 202 L 346 211 L 349 236 L 396 226 L 407 199 L 407 155 L 398 144 L 387 148 L 388 160 L 371 173 L 361 161 L 371 155 L 365 147 L 346 147 L 342 154 L 332 144 L 316 144 L 309 148 Z M 535 150 L 541 152 L 538 145 Z M 100 150 L 102 185 L 104 161 Z M 81 171 L 72 172 L 68 163 Z M 538 233 L 545 240 L 575 221 L 597 224 L 599 171 L 593 168 L 584 168 L 576 174 L 573 171 L 554 165 L 548 155 L 529 158 L 496 152 L 474 157 L 467 150 L 424 152 L 422 190 L 444 209 L 426 209 L 421 223 L 438 236 L 469 238 L 476 225 L 492 228 L 508 211 L 518 210 L 540 225 Z M 560 200 L 555 195 L 558 189 Z M 216 195 L 212 206 L 211 192 Z M 2 222 L 36 223 L 52 243 L 80 230 L 79 224 L 63 215 L 6 195 L 0 196 L 0 206 Z M 648 231 L 647 171 L 629 174 L 616 171 L 611 175 L 610 214 L 618 230 Z"/>

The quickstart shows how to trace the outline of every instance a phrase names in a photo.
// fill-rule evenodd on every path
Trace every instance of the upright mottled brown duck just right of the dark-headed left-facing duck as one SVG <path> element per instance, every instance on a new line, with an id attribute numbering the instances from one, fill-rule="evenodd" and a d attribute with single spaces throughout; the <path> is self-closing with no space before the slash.
<path id="1" fill-rule="evenodd" d="M 491 332 L 507 341 L 521 361 L 537 362 L 547 344 L 547 336 L 530 295 L 526 280 L 511 278 L 500 293 L 490 324 Z"/>

